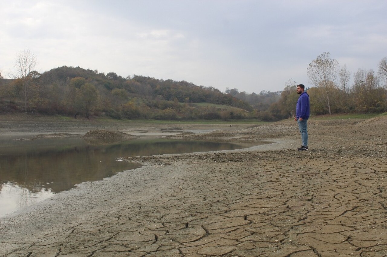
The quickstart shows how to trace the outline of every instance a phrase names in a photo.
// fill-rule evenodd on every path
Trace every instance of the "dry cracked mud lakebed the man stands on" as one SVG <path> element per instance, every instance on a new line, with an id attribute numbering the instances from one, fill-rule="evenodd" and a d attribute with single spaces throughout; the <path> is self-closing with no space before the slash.
<path id="1" fill-rule="evenodd" d="M 305 152 L 295 150 L 301 140 L 292 120 L 227 126 L 174 137 L 275 143 L 127 158 L 144 166 L 0 218 L 0 255 L 387 255 L 387 116 L 312 117 Z"/>

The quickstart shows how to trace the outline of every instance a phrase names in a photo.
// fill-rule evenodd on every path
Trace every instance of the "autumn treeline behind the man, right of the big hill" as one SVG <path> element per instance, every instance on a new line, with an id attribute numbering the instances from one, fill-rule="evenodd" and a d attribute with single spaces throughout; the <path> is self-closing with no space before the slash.
<path id="1" fill-rule="evenodd" d="M 379 62 L 378 71 L 358 69 L 351 74 L 325 52 L 313 59 L 307 71 L 314 83 L 306 89 L 312 115 L 387 112 L 387 57 Z M 263 120 L 281 120 L 295 115 L 297 84 L 289 80 L 283 91 L 262 91 L 259 95 L 235 88 L 226 93 L 247 101 Z"/>

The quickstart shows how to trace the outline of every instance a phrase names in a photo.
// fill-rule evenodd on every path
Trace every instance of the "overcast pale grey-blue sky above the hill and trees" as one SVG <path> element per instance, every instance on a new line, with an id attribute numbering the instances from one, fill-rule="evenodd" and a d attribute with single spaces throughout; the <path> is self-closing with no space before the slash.
<path id="1" fill-rule="evenodd" d="M 221 91 L 312 86 L 330 56 L 353 74 L 387 56 L 385 0 L 0 0 L 0 71 L 33 51 L 61 66 L 185 80 Z"/>

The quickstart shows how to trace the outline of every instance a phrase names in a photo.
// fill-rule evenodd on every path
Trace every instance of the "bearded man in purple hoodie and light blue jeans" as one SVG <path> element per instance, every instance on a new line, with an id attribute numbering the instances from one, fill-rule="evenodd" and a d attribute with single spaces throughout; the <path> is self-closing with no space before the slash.
<path id="1" fill-rule="evenodd" d="M 297 148 L 299 151 L 308 150 L 308 130 L 307 122 L 309 118 L 309 95 L 304 92 L 305 86 L 297 85 L 297 94 L 300 95 L 296 106 L 296 117 L 294 120 L 298 122 L 298 128 L 300 128 L 302 145 Z"/>

